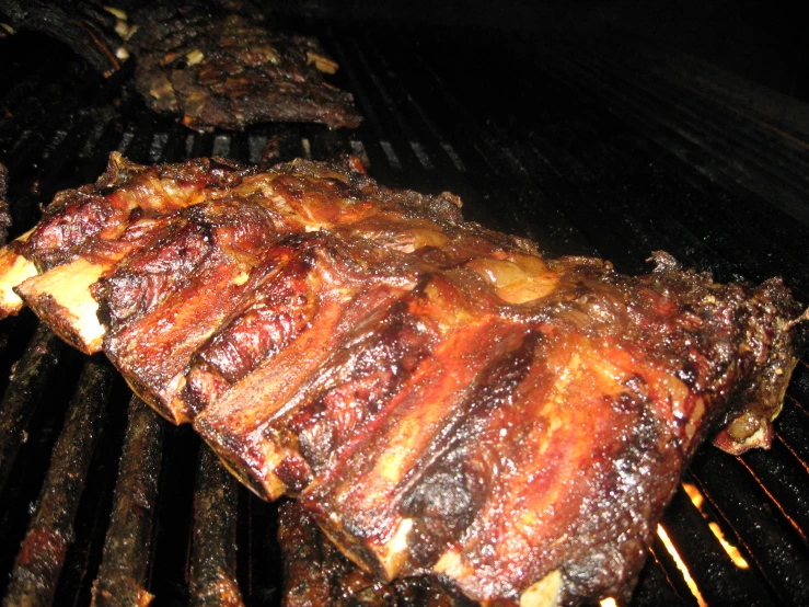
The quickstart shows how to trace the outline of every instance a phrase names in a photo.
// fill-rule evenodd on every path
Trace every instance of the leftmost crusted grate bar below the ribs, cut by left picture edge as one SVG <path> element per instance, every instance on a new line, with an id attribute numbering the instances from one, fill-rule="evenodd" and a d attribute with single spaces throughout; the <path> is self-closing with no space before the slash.
<path id="1" fill-rule="evenodd" d="M 65 342 L 41 323 L 16 363 L 0 400 L 0 491 L 5 485 L 39 397 L 63 348 Z"/>

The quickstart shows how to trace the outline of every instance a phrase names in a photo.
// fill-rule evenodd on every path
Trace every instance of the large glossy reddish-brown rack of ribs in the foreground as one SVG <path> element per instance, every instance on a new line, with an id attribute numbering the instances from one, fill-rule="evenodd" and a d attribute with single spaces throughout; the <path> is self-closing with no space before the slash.
<path id="1" fill-rule="evenodd" d="M 0 306 L 104 350 L 380 581 L 625 598 L 702 439 L 768 445 L 806 316 L 777 278 L 545 260 L 459 207 L 323 163 L 113 154 L 0 251 Z"/>

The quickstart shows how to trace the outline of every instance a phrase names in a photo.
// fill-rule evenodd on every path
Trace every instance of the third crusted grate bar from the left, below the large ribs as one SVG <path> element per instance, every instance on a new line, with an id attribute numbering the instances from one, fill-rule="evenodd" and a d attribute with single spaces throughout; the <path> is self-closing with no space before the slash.
<path id="1" fill-rule="evenodd" d="M 142 605 L 149 597 L 146 585 L 158 507 L 163 433 L 163 421 L 132 397 L 113 513 L 101 566 L 93 582 L 93 605 Z"/>

